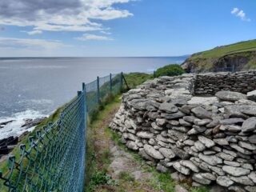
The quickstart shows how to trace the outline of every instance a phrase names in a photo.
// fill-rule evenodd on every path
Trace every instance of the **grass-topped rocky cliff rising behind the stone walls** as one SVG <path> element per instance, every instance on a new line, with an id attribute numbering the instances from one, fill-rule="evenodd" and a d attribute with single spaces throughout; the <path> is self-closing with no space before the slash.
<path id="1" fill-rule="evenodd" d="M 182 63 L 182 68 L 189 73 L 256 69 L 256 40 L 192 54 Z"/>

